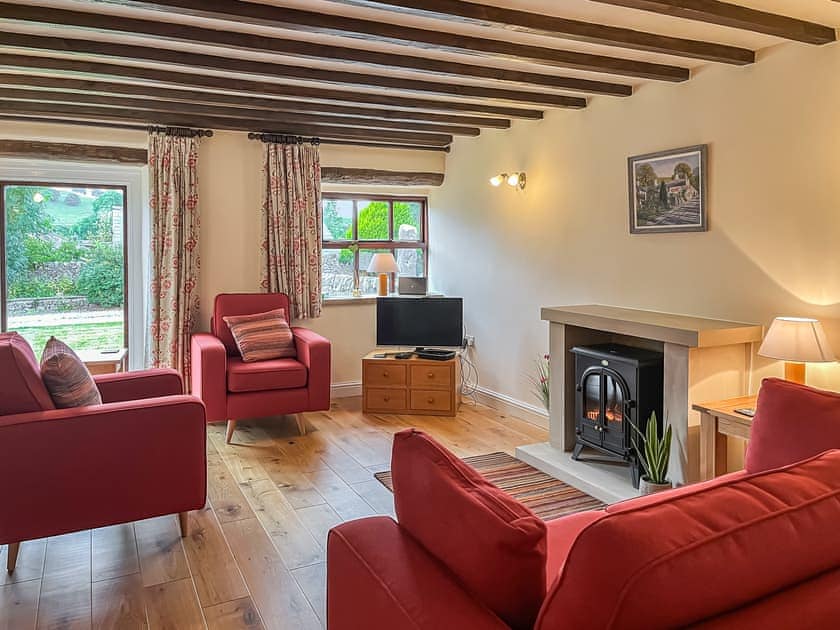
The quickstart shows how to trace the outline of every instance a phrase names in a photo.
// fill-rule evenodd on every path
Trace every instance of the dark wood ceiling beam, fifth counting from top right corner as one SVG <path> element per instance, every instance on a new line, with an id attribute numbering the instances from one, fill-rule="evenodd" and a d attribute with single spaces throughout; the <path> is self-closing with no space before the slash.
<path id="1" fill-rule="evenodd" d="M 115 42 L 0 32 L 0 45 L 12 46 L 24 50 L 71 53 L 74 55 L 97 55 L 112 59 L 151 61 L 208 70 L 228 70 L 234 73 L 263 75 L 276 78 L 321 81 L 344 86 L 361 85 L 466 98 L 498 99 L 517 103 L 548 105 L 551 107 L 586 107 L 586 99 L 563 94 L 489 88 L 457 83 L 439 83 L 437 81 L 420 81 L 417 79 L 403 79 L 358 72 L 320 70 L 305 66 L 290 66 L 266 61 L 250 61 L 236 57 L 204 55 L 169 48 L 132 46 Z"/>

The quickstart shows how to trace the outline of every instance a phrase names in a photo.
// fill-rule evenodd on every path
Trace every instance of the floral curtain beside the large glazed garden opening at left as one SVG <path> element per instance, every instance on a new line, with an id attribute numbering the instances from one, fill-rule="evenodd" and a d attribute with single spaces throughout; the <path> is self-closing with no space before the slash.
<path id="1" fill-rule="evenodd" d="M 198 320 L 198 138 L 149 135 L 151 208 L 150 363 L 189 383 Z"/>

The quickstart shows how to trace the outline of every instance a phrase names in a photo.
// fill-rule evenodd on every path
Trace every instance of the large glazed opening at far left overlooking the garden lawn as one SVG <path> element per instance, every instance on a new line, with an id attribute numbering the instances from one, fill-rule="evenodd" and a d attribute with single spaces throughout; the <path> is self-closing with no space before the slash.
<path id="1" fill-rule="evenodd" d="M 0 320 L 40 353 L 126 347 L 126 188 L 0 182 Z"/>

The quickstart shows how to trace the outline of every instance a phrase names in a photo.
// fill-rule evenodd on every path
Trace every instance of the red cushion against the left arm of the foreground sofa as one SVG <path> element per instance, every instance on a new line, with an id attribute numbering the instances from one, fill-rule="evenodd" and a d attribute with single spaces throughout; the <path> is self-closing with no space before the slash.
<path id="1" fill-rule="evenodd" d="M 421 431 L 394 436 L 391 469 L 400 525 L 508 625 L 533 627 L 545 523 Z"/>

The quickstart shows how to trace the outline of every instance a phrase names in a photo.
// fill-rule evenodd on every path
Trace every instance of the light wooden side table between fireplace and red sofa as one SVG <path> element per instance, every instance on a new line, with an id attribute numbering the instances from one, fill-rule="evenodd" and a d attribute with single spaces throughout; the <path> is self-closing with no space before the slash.
<path id="1" fill-rule="evenodd" d="M 692 406 L 700 412 L 700 479 L 726 474 L 729 436 L 750 439 L 752 418 L 736 409 L 755 409 L 756 396 L 741 396 Z"/>

